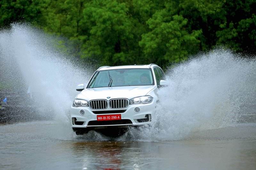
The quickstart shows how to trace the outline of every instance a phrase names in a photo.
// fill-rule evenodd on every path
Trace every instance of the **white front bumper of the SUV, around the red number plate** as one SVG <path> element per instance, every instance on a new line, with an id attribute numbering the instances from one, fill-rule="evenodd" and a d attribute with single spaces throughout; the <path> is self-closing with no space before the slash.
<path id="1" fill-rule="evenodd" d="M 74 131 L 79 131 L 81 128 L 92 130 L 106 128 L 107 126 L 127 127 L 150 124 L 152 117 L 154 117 L 155 106 L 155 99 L 148 104 L 129 104 L 128 107 L 122 109 L 110 109 L 108 107 L 104 110 L 92 110 L 90 107 L 86 106 L 71 106 L 71 126 Z M 139 108 L 140 111 L 136 112 L 135 108 Z M 84 115 L 80 114 L 81 110 L 84 110 Z M 97 115 L 121 115 L 121 120 L 97 121 Z"/>

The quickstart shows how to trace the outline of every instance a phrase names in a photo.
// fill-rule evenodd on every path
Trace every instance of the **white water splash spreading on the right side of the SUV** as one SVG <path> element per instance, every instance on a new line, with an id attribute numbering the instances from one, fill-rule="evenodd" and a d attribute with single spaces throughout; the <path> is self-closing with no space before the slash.
<path id="1" fill-rule="evenodd" d="M 256 116 L 255 58 L 216 49 L 169 69 L 167 77 L 169 86 L 159 92 L 158 121 L 135 136 L 179 140 Z"/>

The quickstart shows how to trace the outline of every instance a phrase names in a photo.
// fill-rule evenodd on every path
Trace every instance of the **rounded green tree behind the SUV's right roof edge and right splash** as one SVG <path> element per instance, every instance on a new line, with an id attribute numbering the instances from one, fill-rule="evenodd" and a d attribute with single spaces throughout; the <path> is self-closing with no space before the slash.
<path id="1" fill-rule="evenodd" d="M 163 65 L 186 60 L 188 54 L 199 50 L 198 37 L 202 30 L 192 30 L 188 19 L 177 15 L 178 4 L 170 1 L 147 21 L 150 32 L 142 34 L 140 46 L 146 58 Z"/>

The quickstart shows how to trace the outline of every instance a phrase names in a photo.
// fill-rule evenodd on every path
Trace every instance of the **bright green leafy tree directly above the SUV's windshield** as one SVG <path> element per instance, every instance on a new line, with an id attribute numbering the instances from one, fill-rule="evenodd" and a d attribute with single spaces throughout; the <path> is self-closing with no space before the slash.
<path id="1" fill-rule="evenodd" d="M 88 39 L 84 55 L 94 56 L 110 65 L 131 63 L 137 56 L 134 29 L 129 9 L 117 1 L 91 1 L 85 4 L 81 24 Z"/>

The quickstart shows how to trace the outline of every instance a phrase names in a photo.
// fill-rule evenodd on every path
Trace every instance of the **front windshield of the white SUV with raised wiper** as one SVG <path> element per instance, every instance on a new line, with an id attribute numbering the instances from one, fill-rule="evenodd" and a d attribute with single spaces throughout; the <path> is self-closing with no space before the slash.
<path id="1" fill-rule="evenodd" d="M 150 68 L 126 68 L 97 71 L 88 88 L 154 85 Z"/>

